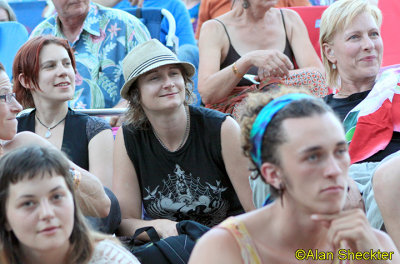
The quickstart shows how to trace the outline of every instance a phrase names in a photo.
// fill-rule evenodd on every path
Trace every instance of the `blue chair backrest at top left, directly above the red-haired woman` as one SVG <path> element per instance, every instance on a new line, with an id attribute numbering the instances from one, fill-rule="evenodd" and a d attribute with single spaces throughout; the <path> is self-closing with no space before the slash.
<path id="1" fill-rule="evenodd" d="M 31 0 L 22 2 L 9 2 L 11 8 L 17 15 L 18 22 L 22 23 L 28 33 L 44 20 L 42 13 L 46 7 L 44 0 Z"/>

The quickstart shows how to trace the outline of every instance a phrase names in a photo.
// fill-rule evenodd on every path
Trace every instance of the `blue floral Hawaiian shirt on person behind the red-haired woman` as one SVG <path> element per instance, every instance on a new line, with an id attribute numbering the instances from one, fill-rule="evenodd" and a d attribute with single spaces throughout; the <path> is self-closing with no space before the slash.
<path id="1" fill-rule="evenodd" d="M 31 34 L 66 39 L 57 14 L 40 23 Z M 122 10 L 90 3 L 81 33 L 70 46 L 76 58 L 76 89 L 72 108 L 111 108 L 121 99 L 122 60 L 136 45 L 150 39 L 145 25 Z"/>

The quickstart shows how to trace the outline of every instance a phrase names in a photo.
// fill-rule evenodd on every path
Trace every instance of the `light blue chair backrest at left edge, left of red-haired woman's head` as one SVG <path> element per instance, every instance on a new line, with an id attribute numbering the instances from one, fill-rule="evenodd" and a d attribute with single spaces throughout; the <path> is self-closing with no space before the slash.
<path id="1" fill-rule="evenodd" d="M 0 23 L 0 62 L 12 74 L 12 63 L 19 48 L 28 40 L 28 31 L 19 22 Z"/>

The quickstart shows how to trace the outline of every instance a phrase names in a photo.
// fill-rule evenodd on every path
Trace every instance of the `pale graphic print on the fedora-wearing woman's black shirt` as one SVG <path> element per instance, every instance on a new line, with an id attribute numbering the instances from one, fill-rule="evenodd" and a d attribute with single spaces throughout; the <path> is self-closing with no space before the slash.
<path id="1" fill-rule="evenodd" d="M 168 174 L 162 187 L 157 185 L 143 197 L 147 214 L 152 218 L 167 218 L 175 221 L 195 220 L 208 226 L 214 226 L 225 219 L 229 204 L 222 193 L 227 187 L 221 181 L 215 184 L 193 178 L 176 164 L 174 173 Z"/>

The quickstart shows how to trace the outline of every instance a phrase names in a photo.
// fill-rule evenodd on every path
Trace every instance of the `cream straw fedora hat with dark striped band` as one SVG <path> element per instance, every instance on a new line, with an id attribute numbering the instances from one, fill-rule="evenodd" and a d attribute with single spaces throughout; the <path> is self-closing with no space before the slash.
<path id="1" fill-rule="evenodd" d="M 122 98 L 128 99 L 129 89 L 140 75 L 168 64 L 182 65 L 189 77 L 195 73 L 193 64 L 179 61 L 170 49 L 156 39 L 134 47 L 122 61 L 125 79 L 125 84 L 121 89 Z"/>

